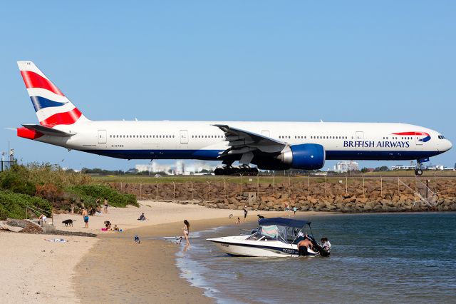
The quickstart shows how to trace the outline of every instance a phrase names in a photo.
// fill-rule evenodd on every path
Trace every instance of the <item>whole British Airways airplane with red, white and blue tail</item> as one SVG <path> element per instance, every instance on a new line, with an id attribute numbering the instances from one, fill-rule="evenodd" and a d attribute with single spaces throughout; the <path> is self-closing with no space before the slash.
<path id="1" fill-rule="evenodd" d="M 416 160 L 415 174 L 421 175 L 421 163 L 452 148 L 437 131 L 407 123 L 91 121 L 33 62 L 18 65 L 39 124 L 22 125 L 17 136 L 68 151 L 222 161 L 217 175 L 319 169 L 327 159 Z M 239 167 L 232 166 L 235 161 Z"/>

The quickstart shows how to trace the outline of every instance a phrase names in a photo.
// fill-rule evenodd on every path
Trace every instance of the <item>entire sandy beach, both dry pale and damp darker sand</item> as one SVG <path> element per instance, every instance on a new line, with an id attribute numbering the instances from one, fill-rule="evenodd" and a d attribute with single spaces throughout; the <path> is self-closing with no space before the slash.
<path id="1" fill-rule="evenodd" d="M 138 221 L 142 212 L 147 221 Z M 249 211 L 247 221 L 257 221 L 257 214 Z M 154 201 L 141 201 L 139 208 L 108 208 L 108 213 L 90 217 L 89 228 L 80 215 L 55 215 L 58 230 L 98 237 L 0 233 L 0 291 L 8 295 L 8 303 L 212 303 L 204 290 L 180 278 L 175 253 L 182 245 L 156 238 L 181 235 L 184 219 L 196 231 L 235 225 L 238 216 L 244 218 L 244 212 Z M 61 223 L 68 218 L 76 219 L 73 227 Z M 124 231 L 102 231 L 104 221 Z M 140 245 L 133 242 L 135 234 L 140 235 Z M 68 243 L 45 238 L 65 238 Z"/>

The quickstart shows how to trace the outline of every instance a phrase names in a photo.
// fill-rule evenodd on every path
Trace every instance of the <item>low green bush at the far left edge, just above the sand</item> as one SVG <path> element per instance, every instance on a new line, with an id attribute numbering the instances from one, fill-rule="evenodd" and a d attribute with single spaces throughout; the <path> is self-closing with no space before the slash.
<path id="1" fill-rule="evenodd" d="M 35 206 L 51 213 L 51 203 L 43 198 L 27 194 L 0 191 L 0 220 L 6 218 L 26 218 L 26 206 Z"/>

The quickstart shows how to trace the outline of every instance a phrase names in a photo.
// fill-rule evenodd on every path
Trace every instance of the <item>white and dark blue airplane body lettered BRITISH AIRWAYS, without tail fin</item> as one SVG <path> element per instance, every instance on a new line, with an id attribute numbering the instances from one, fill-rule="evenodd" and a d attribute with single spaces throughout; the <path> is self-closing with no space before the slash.
<path id="1" fill-rule="evenodd" d="M 406 123 L 84 121 L 54 127 L 76 133 L 74 136 L 45 135 L 36 140 L 116 158 L 217 160 L 229 147 L 224 132 L 214 124 L 290 145 L 318 143 L 329 160 L 412 160 L 429 158 L 452 147 L 437 131 Z"/>

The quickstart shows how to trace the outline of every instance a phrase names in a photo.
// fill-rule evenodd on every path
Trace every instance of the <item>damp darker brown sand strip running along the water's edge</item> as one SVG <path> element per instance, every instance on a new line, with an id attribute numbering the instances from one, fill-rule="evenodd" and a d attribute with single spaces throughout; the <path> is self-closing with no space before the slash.
<path id="1" fill-rule="evenodd" d="M 175 205 L 169 206 L 185 207 Z M 235 226 L 234 218 L 243 214 L 242 211 L 193 207 L 198 208 L 187 209 L 187 212 L 181 214 L 182 219 L 187 218 L 190 221 L 190 233 L 218 226 Z M 231 213 L 234 213 L 234 218 L 229 219 L 228 215 Z M 204 214 L 207 218 L 212 218 L 192 220 L 202 218 Z M 269 217 L 284 216 L 283 212 L 261 214 Z M 157 221 L 159 217 L 160 215 L 155 213 Z M 247 221 L 257 220 L 257 212 L 247 217 Z M 214 303 L 212 298 L 204 296 L 202 288 L 192 287 L 187 280 L 180 278 L 180 272 L 175 265 L 175 253 L 185 245 L 185 240 L 176 245 L 156 239 L 182 235 L 182 227 L 182 221 L 174 221 L 134 228 L 124 233 L 99 235 L 98 243 L 76 266 L 74 283 L 81 302 Z M 140 245 L 133 242 L 135 234 L 140 235 Z"/>

